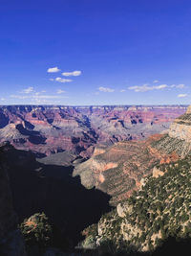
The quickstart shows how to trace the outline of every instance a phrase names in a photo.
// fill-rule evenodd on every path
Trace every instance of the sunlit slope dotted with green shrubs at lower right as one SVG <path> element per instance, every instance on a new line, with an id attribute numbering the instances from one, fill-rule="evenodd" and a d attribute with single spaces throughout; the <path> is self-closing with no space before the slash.
<path id="1" fill-rule="evenodd" d="M 139 251 L 153 251 L 169 237 L 191 238 L 191 158 L 162 164 L 163 176 L 150 176 L 148 182 L 117 210 L 98 222 L 96 240 L 101 245 L 123 244 Z M 106 243 L 107 241 L 107 243 Z"/>

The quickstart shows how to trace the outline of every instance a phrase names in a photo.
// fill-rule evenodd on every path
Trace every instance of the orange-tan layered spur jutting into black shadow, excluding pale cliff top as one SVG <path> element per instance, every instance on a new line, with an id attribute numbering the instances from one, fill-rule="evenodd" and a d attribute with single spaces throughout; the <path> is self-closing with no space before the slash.
<path id="1" fill-rule="evenodd" d="M 98 148 L 89 160 L 75 166 L 74 175 L 80 175 L 85 187 L 96 186 L 112 196 L 110 202 L 116 205 L 138 190 L 143 178 L 152 174 L 156 165 L 179 159 L 175 152 L 166 154 L 152 147 L 162 137 L 158 134 L 144 141 L 118 142 L 109 148 Z"/>

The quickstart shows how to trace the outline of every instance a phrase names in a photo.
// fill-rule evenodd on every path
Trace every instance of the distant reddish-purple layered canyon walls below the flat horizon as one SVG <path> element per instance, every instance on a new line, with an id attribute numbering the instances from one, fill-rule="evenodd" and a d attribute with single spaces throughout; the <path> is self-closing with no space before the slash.
<path id="1" fill-rule="evenodd" d="M 90 157 L 97 144 L 143 140 L 169 128 L 185 105 L 0 107 L 0 143 L 42 155 L 71 151 Z"/>

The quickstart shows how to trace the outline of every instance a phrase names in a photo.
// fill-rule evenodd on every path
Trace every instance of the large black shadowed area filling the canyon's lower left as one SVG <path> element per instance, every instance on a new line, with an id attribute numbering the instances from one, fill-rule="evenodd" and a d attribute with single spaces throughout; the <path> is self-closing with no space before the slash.
<path id="1" fill-rule="evenodd" d="M 39 163 L 31 151 L 15 150 L 11 145 L 7 148 L 4 160 L 18 223 L 33 214 L 44 212 L 53 224 L 53 246 L 74 249 L 81 238 L 80 232 L 111 210 L 110 197 L 99 190 L 84 188 L 78 177 L 72 177 L 72 166 Z M 2 216 L 9 218 L 8 211 L 2 209 Z"/>

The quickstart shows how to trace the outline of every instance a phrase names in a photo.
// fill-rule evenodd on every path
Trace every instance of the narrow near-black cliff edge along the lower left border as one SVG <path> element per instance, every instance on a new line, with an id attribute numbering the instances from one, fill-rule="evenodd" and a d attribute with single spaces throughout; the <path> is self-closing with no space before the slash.
<path id="1" fill-rule="evenodd" d="M 5 149 L 4 149 L 5 150 Z M 17 217 L 12 207 L 11 189 L 3 149 L 0 149 L 0 255 L 25 256 L 25 245 L 17 230 Z"/>

